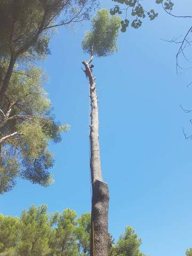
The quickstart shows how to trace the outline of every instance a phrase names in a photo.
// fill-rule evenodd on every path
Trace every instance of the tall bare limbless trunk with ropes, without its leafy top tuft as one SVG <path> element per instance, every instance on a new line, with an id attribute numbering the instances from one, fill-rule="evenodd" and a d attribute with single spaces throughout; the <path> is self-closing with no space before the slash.
<path id="1" fill-rule="evenodd" d="M 91 256 L 108 256 L 108 207 L 109 190 L 107 183 L 102 180 L 100 149 L 99 149 L 99 117 L 98 117 L 98 97 L 96 91 L 95 78 L 90 69 L 90 62 L 83 61 L 85 74 L 90 82 L 91 99 L 91 181 L 92 181 L 92 211 L 91 211 Z"/>

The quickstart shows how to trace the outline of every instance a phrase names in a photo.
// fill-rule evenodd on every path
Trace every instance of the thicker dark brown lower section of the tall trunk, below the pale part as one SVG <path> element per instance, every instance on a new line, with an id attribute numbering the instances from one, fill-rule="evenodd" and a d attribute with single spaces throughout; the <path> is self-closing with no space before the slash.
<path id="1" fill-rule="evenodd" d="M 91 256 L 108 256 L 108 185 L 95 180 L 92 191 Z"/>

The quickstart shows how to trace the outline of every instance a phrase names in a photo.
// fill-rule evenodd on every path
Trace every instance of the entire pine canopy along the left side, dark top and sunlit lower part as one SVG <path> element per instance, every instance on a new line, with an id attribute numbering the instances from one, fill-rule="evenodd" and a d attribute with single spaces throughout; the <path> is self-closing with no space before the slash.
<path id="1" fill-rule="evenodd" d="M 12 189 L 17 177 L 42 186 L 53 182 L 47 146 L 59 142 L 68 126 L 54 121 L 42 71 L 30 67 L 50 54 L 56 27 L 89 19 L 97 3 L 0 0 L 0 194 Z"/>

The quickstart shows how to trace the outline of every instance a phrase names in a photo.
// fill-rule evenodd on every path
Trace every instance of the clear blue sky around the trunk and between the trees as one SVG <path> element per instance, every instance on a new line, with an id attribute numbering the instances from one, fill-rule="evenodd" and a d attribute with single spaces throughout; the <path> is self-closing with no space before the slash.
<path id="1" fill-rule="evenodd" d="M 113 5 L 102 1 L 101 7 Z M 151 256 L 181 256 L 192 247 L 192 108 L 191 70 L 177 76 L 178 45 L 161 41 L 182 35 L 190 20 L 159 12 L 155 21 L 143 22 L 119 37 L 119 52 L 94 60 L 100 111 L 102 171 L 110 188 L 109 230 L 118 239 L 130 225 L 142 238 L 141 249 Z M 190 1 L 175 1 L 175 12 L 188 14 Z M 189 5 L 185 7 L 185 3 Z M 190 8 L 189 8 L 190 7 Z M 49 211 L 66 207 L 79 214 L 90 211 L 89 87 L 81 70 L 87 56 L 81 40 L 89 22 L 73 30 L 60 28 L 51 42 L 52 54 L 43 63 L 50 76 L 46 85 L 54 114 L 71 130 L 58 145 L 49 188 L 18 181 L 1 196 L 3 214 L 18 215 L 31 204 L 47 204 Z"/>

